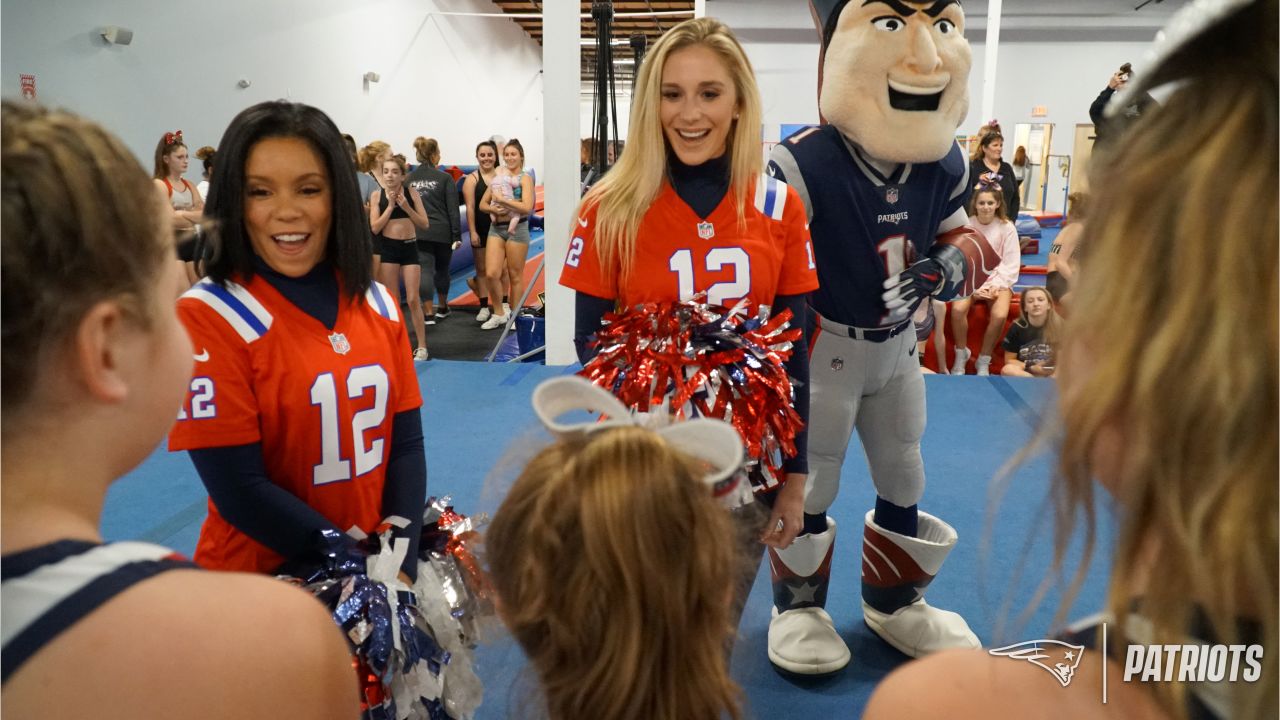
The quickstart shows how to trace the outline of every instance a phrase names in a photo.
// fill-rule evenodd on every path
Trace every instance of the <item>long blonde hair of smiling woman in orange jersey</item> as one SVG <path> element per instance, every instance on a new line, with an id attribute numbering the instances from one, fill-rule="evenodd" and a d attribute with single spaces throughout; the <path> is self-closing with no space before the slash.
<path id="1" fill-rule="evenodd" d="M 631 126 L 626 152 L 582 199 L 579 215 L 598 205 L 595 249 L 604 268 L 618 266 L 622 278 L 631 274 L 640 220 L 662 190 L 667 173 L 667 141 L 663 137 L 662 70 L 677 50 L 699 45 L 724 63 L 737 95 L 737 120 L 728 137 L 730 188 L 735 195 L 739 223 L 745 222 L 746 200 L 760 174 L 760 92 L 751 61 L 733 33 L 717 19 L 685 20 L 667 31 L 645 55 L 631 102 Z"/>

